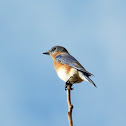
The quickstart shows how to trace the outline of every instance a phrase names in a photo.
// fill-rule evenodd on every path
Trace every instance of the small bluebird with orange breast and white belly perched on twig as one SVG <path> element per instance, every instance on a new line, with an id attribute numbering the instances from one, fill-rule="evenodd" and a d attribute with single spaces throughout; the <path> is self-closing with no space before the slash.
<path id="1" fill-rule="evenodd" d="M 68 85 L 88 81 L 95 87 L 96 84 L 90 79 L 91 74 L 88 72 L 63 46 L 54 46 L 48 52 L 43 54 L 51 56 L 54 60 L 54 68 L 59 78 L 65 81 L 65 90 Z M 72 90 L 73 88 L 71 88 Z"/>

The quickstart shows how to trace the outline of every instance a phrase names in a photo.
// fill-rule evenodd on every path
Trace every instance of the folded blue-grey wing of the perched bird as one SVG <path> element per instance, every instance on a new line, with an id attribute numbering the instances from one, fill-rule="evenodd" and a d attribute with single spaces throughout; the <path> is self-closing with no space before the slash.
<path id="1" fill-rule="evenodd" d="M 78 71 L 84 72 L 87 76 L 91 76 L 93 74 L 89 73 L 85 70 L 85 68 L 71 55 L 69 54 L 61 54 L 56 56 L 55 60 L 59 63 L 69 65 Z"/>

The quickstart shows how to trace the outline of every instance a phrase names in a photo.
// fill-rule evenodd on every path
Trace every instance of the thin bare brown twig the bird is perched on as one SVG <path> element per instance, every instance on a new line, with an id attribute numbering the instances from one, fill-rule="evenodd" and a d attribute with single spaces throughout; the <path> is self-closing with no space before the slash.
<path id="1" fill-rule="evenodd" d="M 67 86 L 67 103 L 68 103 L 68 120 L 69 120 L 69 126 L 73 126 L 73 120 L 72 120 L 72 110 L 73 105 L 71 104 L 71 85 Z"/>

